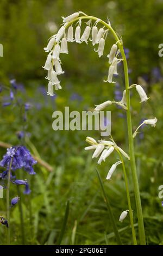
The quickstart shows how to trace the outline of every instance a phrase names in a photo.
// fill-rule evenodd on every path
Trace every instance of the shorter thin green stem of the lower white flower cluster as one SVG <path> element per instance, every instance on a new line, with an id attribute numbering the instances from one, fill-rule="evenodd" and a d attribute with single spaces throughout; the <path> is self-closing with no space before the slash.
<path id="1" fill-rule="evenodd" d="M 134 245 L 137 245 L 136 235 L 135 235 L 135 228 L 134 228 L 134 221 L 133 221 L 133 210 L 131 208 L 131 200 L 130 200 L 130 194 L 129 194 L 129 186 L 128 186 L 126 168 L 125 168 L 123 157 L 122 157 L 120 151 L 118 149 L 116 149 L 116 150 L 117 150 L 117 153 L 119 154 L 120 160 L 122 162 L 122 168 L 123 168 L 123 173 L 124 173 L 124 181 L 125 181 L 125 185 L 126 185 L 126 193 L 127 193 L 127 202 L 128 202 L 131 230 L 132 230 L 132 235 L 133 235 L 133 243 L 134 243 Z"/>

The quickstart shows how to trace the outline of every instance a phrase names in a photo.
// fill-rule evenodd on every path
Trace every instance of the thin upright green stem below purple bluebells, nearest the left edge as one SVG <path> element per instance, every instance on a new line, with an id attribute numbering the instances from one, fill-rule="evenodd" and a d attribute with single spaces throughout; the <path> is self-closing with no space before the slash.
<path id="1" fill-rule="evenodd" d="M 13 157 L 11 157 L 9 172 L 8 172 L 8 182 L 7 182 L 7 192 L 6 192 L 6 217 L 8 221 L 7 229 L 7 244 L 10 245 L 10 175 L 11 175 L 11 166 L 12 166 Z"/>

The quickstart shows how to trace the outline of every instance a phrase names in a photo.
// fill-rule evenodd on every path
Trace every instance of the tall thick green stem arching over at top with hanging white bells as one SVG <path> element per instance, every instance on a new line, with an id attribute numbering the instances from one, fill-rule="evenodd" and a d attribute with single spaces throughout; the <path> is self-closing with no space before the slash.
<path id="1" fill-rule="evenodd" d="M 67 22 L 65 25 L 65 29 L 69 27 L 73 22 L 83 19 L 91 19 L 101 23 L 105 26 L 114 36 L 114 39 L 117 42 L 117 46 L 120 49 L 121 56 L 123 59 L 123 68 L 124 68 L 124 78 L 125 78 L 125 86 L 126 86 L 126 100 L 127 100 L 127 127 L 128 127 L 128 143 L 129 143 L 129 153 L 130 153 L 130 164 L 131 164 L 131 173 L 133 176 L 133 184 L 134 184 L 134 193 L 135 193 L 135 200 L 136 200 L 136 209 L 137 209 L 137 218 L 138 218 L 138 225 L 139 225 L 139 237 L 140 237 L 140 244 L 146 245 L 146 238 L 145 238 L 145 228 L 143 223 L 143 215 L 142 215 L 142 206 L 141 206 L 141 198 L 140 198 L 140 190 L 139 190 L 139 182 L 137 179 L 137 171 L 136 171 L 136 163 L 135 163 L 135 154 L 134 154 L 134 139 L 133 139 L 133 129 L 132 129 L 132 122 L 131 122 L 131 109 L 130 109 L 130 92 L 129 92 L 129 77 L 128 77 L 128 65 L 126 55 L 124 53 L 123 44 L 120 38 L 118 38 L 114 29 L 105 21 L 98 19 L 97 17 L 93 16 L 80 16 L 77 19 L 74 19 L 71 22 Z"/>

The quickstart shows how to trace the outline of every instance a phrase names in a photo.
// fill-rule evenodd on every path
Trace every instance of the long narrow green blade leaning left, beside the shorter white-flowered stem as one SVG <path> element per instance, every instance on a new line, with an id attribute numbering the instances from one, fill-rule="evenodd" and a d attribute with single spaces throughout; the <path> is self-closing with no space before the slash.
<path id="1" fill-rule="evenodd" d="M 97 168 L 96 168 L 96 172 L 97 172 L 98 179 L 99 179 L 99 182 L 100 182 L 100 185 L 101 185 L 101 188 L 102 188 L 103 196 L 104 196 L 106 206 L 107 206 L 107 209 L 108 209 L 108 212 L 109 212 L 109 217 L 110 217 L 110 220 L 111 220 L 111 223 L 112 223 L 112 227 L 114 229 L 114 233 L 115 233 L 117 243 L 118 243 L 118 245 L 122 245 L 121 237 L 120 237 L 120 234 L 118 232 L 118 228 L 117 228 L 117 225 L 116 225 L 116 222 L 115 222 L 115 218 L 114 218 L 114 215 L 112 214 L 111 206 L 110 206 L 108 197 L 106 196 L 106 192 L 105 192 L 105 189 L 104 189 L 104 186 L 103 186 L 103 182 L 102 182 L 101 176 L 100 176 Z"/>

